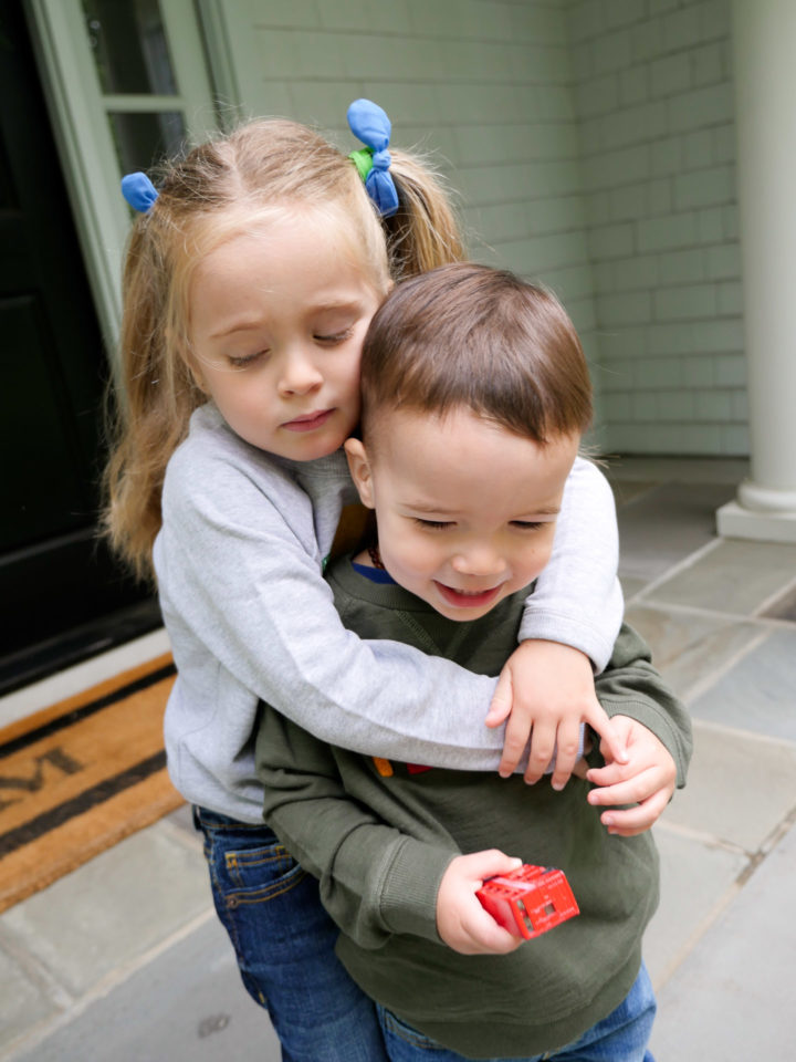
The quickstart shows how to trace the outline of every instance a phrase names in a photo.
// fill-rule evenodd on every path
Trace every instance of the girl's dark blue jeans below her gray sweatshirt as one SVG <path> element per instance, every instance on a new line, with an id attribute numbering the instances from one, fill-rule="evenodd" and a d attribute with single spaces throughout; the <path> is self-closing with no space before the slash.
<path id="1" fill-rule="evenodd" d="M 373 1001 L 348 977 L 318 886 L 264 825 L 201 808 L 213 903 L 249 995 L 265 1007 L 283 1062 L 387 1062 Z"/>

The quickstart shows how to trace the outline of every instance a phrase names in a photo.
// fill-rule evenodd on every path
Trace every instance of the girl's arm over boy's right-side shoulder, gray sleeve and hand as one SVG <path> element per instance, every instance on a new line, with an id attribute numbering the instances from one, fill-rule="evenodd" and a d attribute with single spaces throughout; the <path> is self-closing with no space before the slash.
<path id="1" fill-rule="evenodd" d="M 622 618 L 614 497 L 603 473 L 578 458 L 567 479 L 553 555 L 530 595 L 521 645 L 504 667 L 488 717 L 509 719 L 501 774 L 517 767 L 531 738 L 525 779 L 536 782 L 555 754 L 563 789 L 578 754 L 582 722 L 625 762 L 624 742 L 600 707 L 594 674 L 611 655 Z"/>

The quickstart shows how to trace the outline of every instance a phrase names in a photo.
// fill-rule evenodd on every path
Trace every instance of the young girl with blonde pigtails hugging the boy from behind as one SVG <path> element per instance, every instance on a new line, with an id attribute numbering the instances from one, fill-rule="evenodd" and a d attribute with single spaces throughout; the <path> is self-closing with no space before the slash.
<path id="1" fill-rule="evenodd" d="M 542 775 L 557 741 L 556 788 L 583 720 L 621 756 L 591 683 L 620 623 L 615 517 L 586 462 L 567 486 L 577 516 L 565 494 L 556 552 L 498 687 L 359 641 L 337 616 L 322 571 L 355 500 L 341 446 L 359 415 L 363 337 L 395 278 L 461 257 L 437 180 L 408 155 L 390 159 L 380 108 L 359 101 L 352 115 L 369 145 L 354 162 L 304 126 L 255 122 L 176 160 L 136 199 L 125 403 L 106 476 L 113 542 L 157 575 L 178 670 L 169 771 L 196 808 L 218 914 L 283 1058 L 311 1062 L 385 1055 L 314 879 L 262 824 L 260 700 L 356 751 L 475 770 L 500 760 L 502 773 L 533 727 L 525 777 Z M 502 759 L 502 733 L 484 727 L 491 700 L 493 726 L 512 709 Z"/>

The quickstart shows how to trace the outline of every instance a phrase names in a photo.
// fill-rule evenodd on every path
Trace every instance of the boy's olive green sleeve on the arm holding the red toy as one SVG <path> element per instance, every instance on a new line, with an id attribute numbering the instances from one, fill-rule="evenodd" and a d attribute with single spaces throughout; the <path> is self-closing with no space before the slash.
<path id="1" fill-rule="evenodd" d="M 343 753 L 349 757 L 349 753 Z M 441 943 L 437 894 L 458 851 L 383 822 L 350 796 L 333 748 L 265 708 L 256 741 L 263 818 L 320 882 L 324 907 L 364 948 L 394 933 Z M 367 787 L 365 767 L 356 773 Z"/>

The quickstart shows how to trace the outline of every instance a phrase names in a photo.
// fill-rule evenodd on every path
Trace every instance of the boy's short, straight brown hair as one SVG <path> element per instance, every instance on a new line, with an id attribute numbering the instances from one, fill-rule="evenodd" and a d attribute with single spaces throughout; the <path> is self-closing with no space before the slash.
<path id="1" fill-rule="evenodd" d="M 442 266 L 394 289 L 365 340 L 363 431 L 380 410 L 465 406 L 544 444 L 591 421 L 575 327 L 551 292 L 507 270 Z"/>

